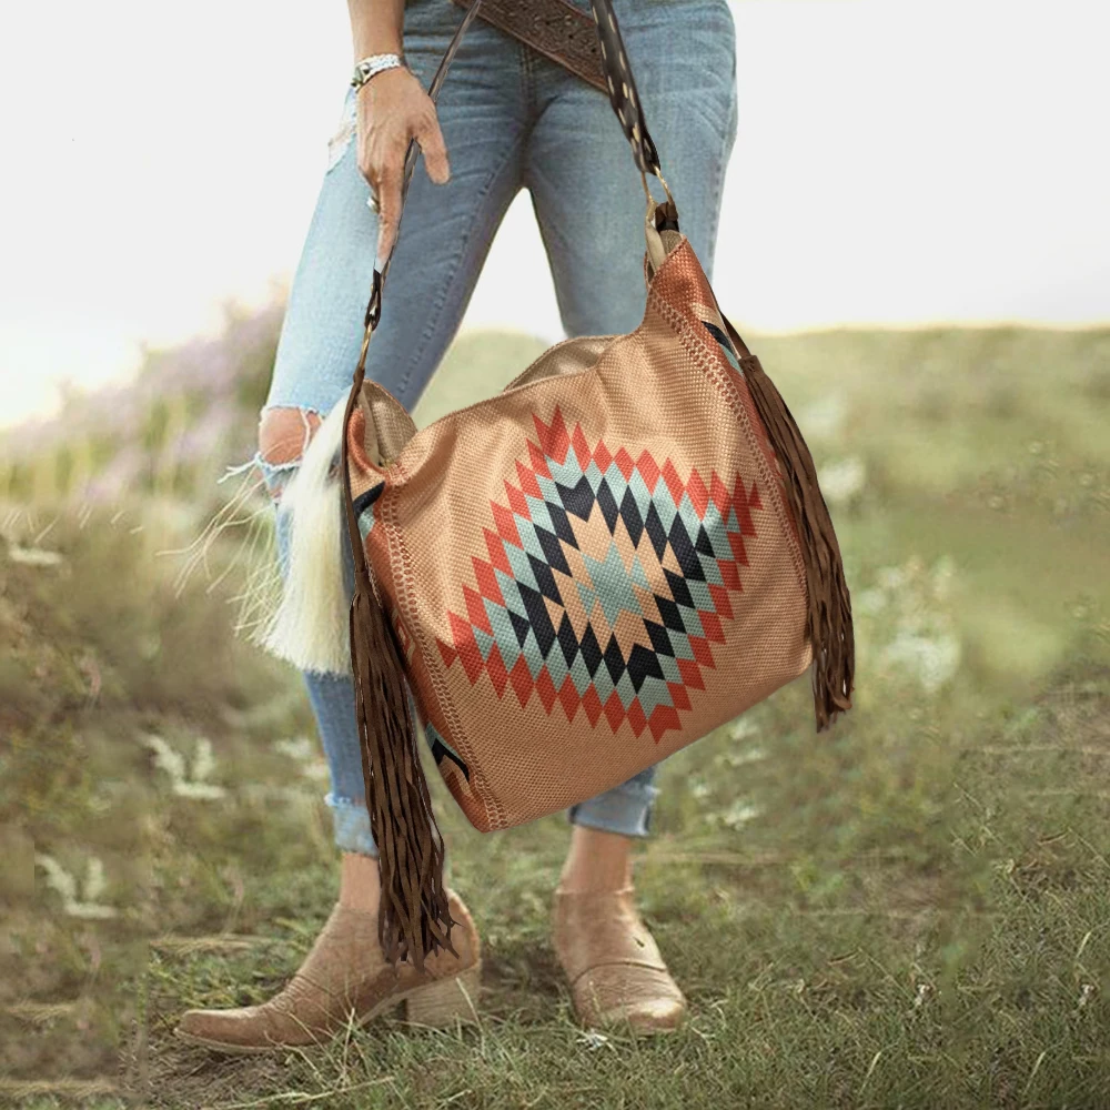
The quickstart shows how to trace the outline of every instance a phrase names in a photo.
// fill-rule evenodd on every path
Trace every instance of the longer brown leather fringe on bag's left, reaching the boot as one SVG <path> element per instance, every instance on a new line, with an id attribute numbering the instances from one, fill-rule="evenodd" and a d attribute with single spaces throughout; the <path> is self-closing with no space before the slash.
<path id="1" fill-rule="evenodd" d="M 344 420 L 342 470 L 345 515 L 354 549 L 355 591 L 351 603 L 351 669 L 362 748 L 370 827 L 379 851 L 382 901 L 377 935 L 385 958 L 396 967 L 451 944 L 452 920 L 443 881 L 443 838 L 420 761 L 410 712 L 402 654 L 370 579 L 366 553 L 351 497 L 347 438 L 351 414 L 362 390 L 360 366 Z"/>

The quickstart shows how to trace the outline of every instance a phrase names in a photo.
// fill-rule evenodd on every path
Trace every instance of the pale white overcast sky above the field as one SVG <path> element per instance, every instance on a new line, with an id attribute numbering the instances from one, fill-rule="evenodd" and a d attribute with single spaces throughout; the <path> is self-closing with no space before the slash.
<path id="1" fill-rule="evenodd" d="M 730 3 L 714 290 L 738 326 L 1110 322 L 1110 4 Z M 54 0 L 4 22 L 0 425 L 283 287 L 352 61 L 342 0 Z M 563 337 L 526 193 L 463 326 Z"/>

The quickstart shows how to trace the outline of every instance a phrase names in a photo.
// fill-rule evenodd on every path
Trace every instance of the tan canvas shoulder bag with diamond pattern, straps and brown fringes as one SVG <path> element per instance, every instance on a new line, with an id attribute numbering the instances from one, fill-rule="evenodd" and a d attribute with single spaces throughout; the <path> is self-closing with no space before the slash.
<path id="1" fill-rule="evenodd" d="M 381 938 L 417 966 L 451 949 L 452 921 L 406 686 L 483 831 L 626 781 L 807 668 L 818 731 L 851 705 L 851 608 L 813 458 L 678 229 L 609 0 L 593 13 L 647 195 L 639 326 L 557 343 L 496 396 L 417 431 L 365 377 L 386 260 L 345 408 Z"/>

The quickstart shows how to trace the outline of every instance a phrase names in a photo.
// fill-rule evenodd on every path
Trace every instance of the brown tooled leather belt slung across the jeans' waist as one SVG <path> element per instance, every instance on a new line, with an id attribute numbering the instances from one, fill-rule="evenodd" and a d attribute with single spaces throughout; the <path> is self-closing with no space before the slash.
<path id="1" fill-rule="evenodd" d="M 470 8 L 473 0 L 452 0 L 452 3 Z M 527 0 L 527 3 L 482 0 L 477 18 L 565 65 L 602 92 L 609 91 L 597 49 L 594 18 L 567 0 Z"/>

